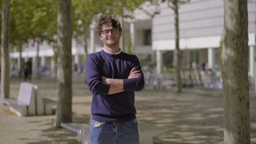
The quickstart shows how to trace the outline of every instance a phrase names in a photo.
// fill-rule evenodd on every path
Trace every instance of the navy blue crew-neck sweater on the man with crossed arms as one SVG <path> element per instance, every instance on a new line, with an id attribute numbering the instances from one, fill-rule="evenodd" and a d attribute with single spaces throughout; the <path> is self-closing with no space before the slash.
<path id="1" fill-rule="evenodd" d="M 140 70 L 141 76 L 127 79 L 132 68 Z M 103 83 L 101 76 L 124 79 L 124 92 L 108 94 L 110 85 Z M 144 75 L 135 55 L 121 52 L 111 55 L 103 50 L 91 53 L 86 60 L 86 79 L 93 94 L 92 119 L 99 122 L 124 122 L 135 118 L 135 91 L 144 87 Z"/>

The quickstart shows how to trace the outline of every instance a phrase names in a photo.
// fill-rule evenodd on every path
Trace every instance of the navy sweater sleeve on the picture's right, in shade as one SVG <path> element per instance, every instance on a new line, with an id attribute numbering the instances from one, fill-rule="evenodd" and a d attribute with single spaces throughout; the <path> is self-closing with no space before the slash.
<path id="1" fill-rule="evenodd" d="M 135 68 L 135 70 L 139 70 L 139 73 L 141 73 L 141 76 L 132 78 L 132 79 L 124 79 L 124 90 L 125 91 L 132 91 L 132 92 L 138 92 L 142 91 L 144 87 L 144 74 L 141 70 L 141 64 L 139 63 L 138 58 L 135 56 L 132 61 L 132 68 Z"/>

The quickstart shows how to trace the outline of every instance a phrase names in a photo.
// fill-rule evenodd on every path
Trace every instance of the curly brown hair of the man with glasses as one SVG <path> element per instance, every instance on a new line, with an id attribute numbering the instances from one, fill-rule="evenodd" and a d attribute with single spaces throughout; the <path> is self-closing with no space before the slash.
<path id="1" fill-rule="evenodd" d="M 122 31 L 120 22 L 113 19 L 111 16 L 107 16 L 106 14 L 100 15 L 100 17 L 98 17 L 98 24 L 97 24 L 98 35 L 101 34 L 103 25 L 111 25 L 113 28 L 117 28 L 119 31 Z"/>

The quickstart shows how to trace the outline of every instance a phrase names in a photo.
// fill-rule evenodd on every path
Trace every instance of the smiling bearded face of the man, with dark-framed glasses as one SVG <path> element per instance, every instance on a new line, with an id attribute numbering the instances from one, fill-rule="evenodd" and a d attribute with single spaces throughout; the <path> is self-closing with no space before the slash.
<path id="1" fill-rule="evenodd" d="M 108 30 L 108 34 L 103 34 L 103 31 Z M 117 30 L 117 33 L 113 34 L 112 31 Z M 100 34 L 100 39 L 103 41 L 104 45 L 113 46 L 119 44 L 119 39 L 122 35 L 122 32 L 118 29 L 114 29 L 111 25 L 103 25 L 102 26 L 102 33 Z"/>

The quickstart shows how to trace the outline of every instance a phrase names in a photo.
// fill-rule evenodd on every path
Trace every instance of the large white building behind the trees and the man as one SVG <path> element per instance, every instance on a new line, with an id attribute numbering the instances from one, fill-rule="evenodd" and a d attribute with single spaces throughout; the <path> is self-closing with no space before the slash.
<path id="1" fill-rule="evenodd" d="M 248 35 L 249 35 L 249 75 L 253 76 L 253 57 L 255 39 L 255 1 L 248 3 Z M 159 10 L 160 14 L 150 17 L 141 10 L 133 14 L 136 19 L 126 20 L 129 25 L 124 27 L 124 41 L 131 35 L 132 53 L 136 55 L 156 53 L 158 69 L 170 66 L 173 62 L 174 41 L 174 14 L 173 10 L 161 3 L 158 9 L 143 5 L 144 9 L 152 13 Z M 224 25 L 224 4 L 223 0 L 191 0 L 190 3 L 181 5 L 179 9 L 179 35 L 180 49 L 183 51 L 183 68 L 193 61 L 201 64 L 208 61 L 209 67 L 219 63 L 220 40 L 223 35 Z M 84 63 L 84 49 L 82 44 L 72 41 L 72 55 L 74 63 Z M 89 53 L 100 51 L 103 47 L 101 40 L 96 33 L 95 24 L 91 26 L 90 40 L 88 40 Z M 127 45 L 126 45 L 127 46 Z M 126 50 L 126 48 L 125 48 Z M 45 42 L 40 46 L 40 65 L 53 67 L 54 52 L 51 46 Z M 152 55 L 154 56 L 154 55 Z M 33 58 L 33 65 L 36 57 L 36 45 L 25 47 L 22 57 Z M 10 58 L 19 60 L 19 53 L 10 53 Z M 20 65 L 19 65 L 20 67 Z"/>

